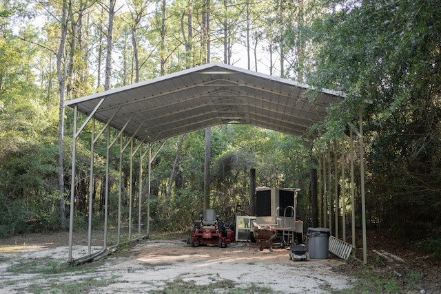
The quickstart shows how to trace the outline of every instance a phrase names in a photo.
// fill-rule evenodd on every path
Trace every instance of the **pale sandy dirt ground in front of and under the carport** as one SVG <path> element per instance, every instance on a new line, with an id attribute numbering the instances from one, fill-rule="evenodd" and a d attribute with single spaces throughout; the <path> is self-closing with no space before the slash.
<path id="1" fill-rule="evenodd" d="M 384 248 L 384 242 L 377 241 L 378 244 L 373 246 L 378 250 Z M 94 242 L 98 244 L 99 240 Z M 29 261 L 65 263 L 68 260 L 67 244 L 67 233 L 31 234 L 0 240 L 0 293 L 36 293 L 32 291 L 35 284 L 43 285 L 47 290 L 45 293 L 60 293 L 52 289 L 57 283 L 88 279 L 104 281 L 92 284 L 88 293 L 147 293 L 179 280 L 196 284 L 231 280 L 242 288 L 256 285 L 279 293 L 329 293 L 351 288 L 354 286 L 351 282 L 357 284 L 351 271 L 360 266 L 360 262 L 343 261 L 332 255 L 327 260 L 293 262 L 289 260 L 290 251 L 287 249 L 256 251 L 254 244 L 247 242 L 220 249 L 217 246 L 192 248 L 182 240 L 141 240 L 127 251 L 120 250 L 96 262 L 93 270 L 81 270 L 81 266 L 74 272 L 59 273 L 57 270 L 45 273 L 32 269 L 23 271 L 23 267 L 21 271 L 11 270 L 20 265 L 32 267 L 34 263 Z M 92 252 L 101 248 L 92 246 Z M 72 257 L 79 258 L 87 251 L 87 242 L 76 242 Z M 393 253 L 405 256 L 406 261 L 398 268 L 384 267 L 385 271 L 411 267 L 423 274 L 419 288 L 410 293 L 441 293 L 439 264 L 399 249 Z M 376 253 L 371 249 L 369 258 L 375 264 Z"/>

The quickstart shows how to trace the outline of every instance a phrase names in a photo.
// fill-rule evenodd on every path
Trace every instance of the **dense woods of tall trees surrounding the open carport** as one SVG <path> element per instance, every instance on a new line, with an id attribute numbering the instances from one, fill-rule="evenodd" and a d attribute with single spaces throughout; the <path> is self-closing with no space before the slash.
<path id="1" fill-rule="evenodd" d="M 256 168 L 258 186 L 301 189 L 298 215 L 308 225 L 309 171 L 320 172 L 321 156 L 336 156 L 349 170 L 348 122 L 357 125 L 362 109 L 368 224 L 404 241 L 440 244 L 439 15 L 439 0 L 2 0 L 0 236 L 66 229 L 72 138 L 64 134 L 72 134 L 73 114 L 65 100 L 220 61 L 346 94 L 311 129 L 314 141 L 250 125 L 212 127 L 210 206 L 225 219 L 234 217 L 236 204 L 249 208 L 249 169 Z M 156 156 L 153 230 L 189 229 L 192 211 L 201 211 L 204 136 L 201 130 L 170 138 Z M 98 145 L 96 227 L 103 224 L 105 190 L 105 142 Z M 81 138 L 76 152 L 75 227 L 81 229 L 88 216 L 90 139 Z M 119 174 L 112 152 L 111 198 Z M 361 211 L 359 154 L 355 158 L 355 208 Z M 129 203 L 127 154 L 123 162 L 123 201 Z M 338 180 L 349 191 L 349 180 Z M 329 185 L 331 197 L 333 189 Z M 345 197 L 350 203 L 350 193 Z M 333 203 L 331 211 L 341 216 Z M 349 216 L 350 205 L 345 208 Z M 111 204 L 113 225 L 116 209 Z"/>

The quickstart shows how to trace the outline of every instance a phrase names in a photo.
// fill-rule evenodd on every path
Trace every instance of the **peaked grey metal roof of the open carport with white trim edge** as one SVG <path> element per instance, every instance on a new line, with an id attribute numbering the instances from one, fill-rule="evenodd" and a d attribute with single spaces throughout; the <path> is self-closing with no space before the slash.
<path id="1" fill-rule="evenodd" d="M 65 103 L 152 143 L 225 123 L 244 123 L 302 136 L 342 94 L 223 63 L 209 63 Z"/>

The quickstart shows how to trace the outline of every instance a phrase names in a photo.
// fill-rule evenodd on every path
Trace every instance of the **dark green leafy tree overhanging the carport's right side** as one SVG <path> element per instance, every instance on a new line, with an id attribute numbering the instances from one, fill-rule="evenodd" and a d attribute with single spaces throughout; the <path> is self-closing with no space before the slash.
<path id="1" fill-rule="evenodd" d="M 312 27 L 319 50 L 309 83 L 347 96 L 329 108 L 324 140 L 365 132 L 368 210 L 397 234 L 441 224 L 439 1 L 330 1 Z M 366 103 L 371 101 L 371 103 Z M 418 224 L 403 227 L 404 222 Z M 413 228 L 412 228 L 413 227 Z"/>

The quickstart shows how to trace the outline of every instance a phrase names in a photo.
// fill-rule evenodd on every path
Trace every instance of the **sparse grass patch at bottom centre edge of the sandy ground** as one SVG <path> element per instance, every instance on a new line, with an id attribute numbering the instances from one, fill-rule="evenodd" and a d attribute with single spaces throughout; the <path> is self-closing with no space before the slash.
<path id="1" fill-rule="evenodd" d="M 260 287 L 256 284 L 246 286 L 245 288 L 232 281 L 223 280 L 213 282 L 207 285 L 196 285 L 196 282 L 185 282 L 181 278 L 176 278 L 172 282 L 168 282 L 163 290 L 152 290 L 149 294 L 212 294 L 212 293 L 225 293 L 225 294 L 276 294 L 271 288 Z"/>

